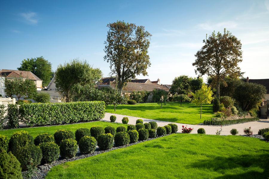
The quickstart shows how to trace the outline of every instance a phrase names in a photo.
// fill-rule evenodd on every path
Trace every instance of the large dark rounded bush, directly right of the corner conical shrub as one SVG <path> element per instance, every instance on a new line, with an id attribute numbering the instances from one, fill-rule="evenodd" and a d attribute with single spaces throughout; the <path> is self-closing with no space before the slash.
<path id="1" fill-rule="evenodd" d="M 39 146 L 27 145 L 20 149 L 16 157 L 21 163 L 22 169 L 25 170 L 30 163 L 33 163 L 33 166 L 37 166 L 41 163 L 42 151 Z"/>

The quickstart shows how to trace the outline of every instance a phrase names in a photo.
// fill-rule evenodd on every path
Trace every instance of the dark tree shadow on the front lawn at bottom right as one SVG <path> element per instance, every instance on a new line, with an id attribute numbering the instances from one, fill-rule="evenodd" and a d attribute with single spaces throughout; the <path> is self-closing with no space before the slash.
<path id="1" fill-rule="evenodd" d="M 262 153 L 262 154 L 261 154 Z M 218 173 L 224 173 L 225 170 L 239 170 L 246 171 L 240 174 L 224 174 L 217 177 L 218 179 L 226 178 L 267 178 L 269 177 L 269 150 L 260 150 L 255 155 L 234 155 L 233 157 L 221 157 L 210 158 L 208 160 L 199 160 L 189 165 L 191 168 L 206 168 L 209 171 L 215 171 Z M 263 170 L 263 172 L 255 171 L 257 168 Z M 248 171 L 247 171 L 248 170 Z M 249 171 L 252 170 L 252 171 Z"/>

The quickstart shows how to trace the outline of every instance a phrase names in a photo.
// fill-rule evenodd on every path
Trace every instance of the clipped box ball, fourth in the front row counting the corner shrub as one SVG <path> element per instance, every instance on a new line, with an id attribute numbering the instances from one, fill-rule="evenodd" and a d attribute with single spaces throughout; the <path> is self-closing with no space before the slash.
<path id="1" fill-rule="evenodd" d="M 74 139 L 65 139 L 60 144 L 60 155 L 63 158 L 73 158 L 77 153 L 77 141 Z"/>

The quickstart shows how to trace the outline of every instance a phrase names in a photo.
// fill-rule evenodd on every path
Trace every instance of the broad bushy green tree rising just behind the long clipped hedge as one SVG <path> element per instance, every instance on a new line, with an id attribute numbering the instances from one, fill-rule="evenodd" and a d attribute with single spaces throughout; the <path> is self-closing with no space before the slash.
<path id="1" fill-rule="evenodd" d="M 75 90 L 72 87 L 77 84 L 84 86 L 96 83 L 102 77 L 99 68 L 93 68 L 86 61 L 80 61 L 78 58 L 65 62 L 64 65 L 59 64 L 55 71 L 54 83 L 56 91 L 61 92 L 65 101 L 69 102 Z"/>

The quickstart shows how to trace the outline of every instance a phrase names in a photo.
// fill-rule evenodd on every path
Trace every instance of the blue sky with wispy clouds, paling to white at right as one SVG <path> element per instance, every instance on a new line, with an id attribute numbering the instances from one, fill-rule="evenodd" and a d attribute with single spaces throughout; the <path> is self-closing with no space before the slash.
<path id="1" fill-rule="evenodd" d="M 244 77 L 269 78 L 269 0 L 243 1 L 0 1 L 0 69 L 43 56 L 52 64 L 86 60 L 109 76 L 104 41 L 117 20 L 144 26 L 152 34 L 150 79 L 172 84 L 197 77 L 195 53 L 213 31 L 226 28 L 242 43 Z M 204 76 L 206 82 L 206 76 Z"/>

